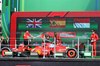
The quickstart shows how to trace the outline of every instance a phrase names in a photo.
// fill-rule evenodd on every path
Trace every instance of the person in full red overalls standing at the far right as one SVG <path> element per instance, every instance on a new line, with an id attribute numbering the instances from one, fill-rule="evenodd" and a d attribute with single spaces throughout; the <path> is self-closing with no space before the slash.
<path id="1" fill-rule="evenodd" d="M 93 56 L 96 56 L 96 41 L 99 40 L 99 37 L 95 33 L 95 30 L 92 30 L 92 35 L 90 39 L 91 39 L 91 45 L 93 45 Z"/>

